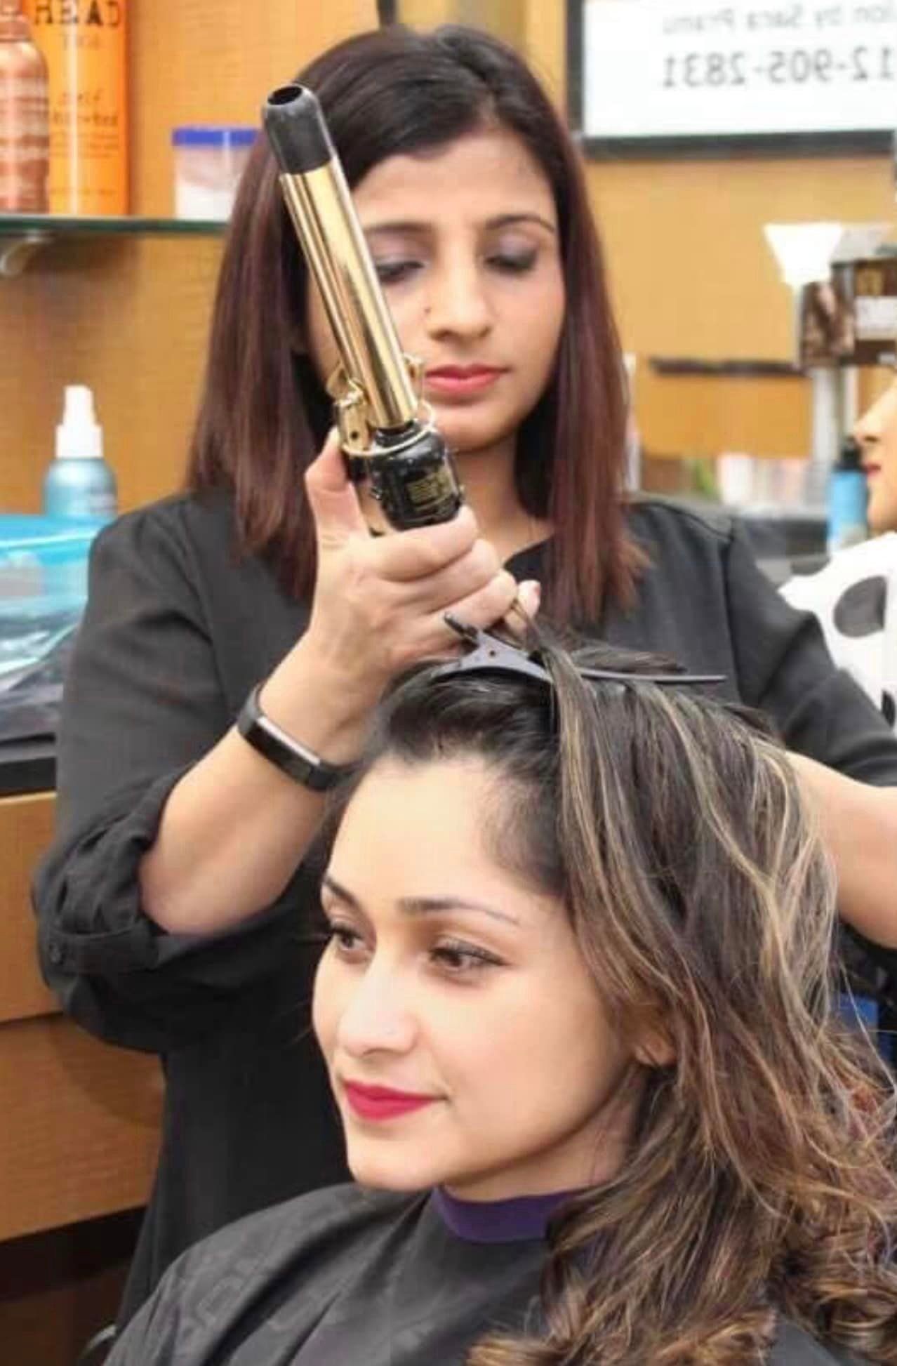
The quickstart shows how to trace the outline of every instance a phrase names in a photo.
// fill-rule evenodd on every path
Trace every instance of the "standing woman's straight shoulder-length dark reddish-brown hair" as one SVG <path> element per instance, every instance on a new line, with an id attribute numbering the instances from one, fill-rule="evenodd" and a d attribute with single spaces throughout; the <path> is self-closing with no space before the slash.
<path id="1" fill-rule="evenodd" d="M 351 186 L 385 157 L 438 148 L 483 126 L 515 133 L 557 205 L 567 313 L 553 378 L 523 423 L 517 489 L 556 526 L 546 605 L 594 619 L 625 600 L 638 555 L 621 505 L 625 402 L 602 254 L 573 143 L 517 55 L 475 29 L 401 25 L 350 38 L 299 78 L 324 109 Z M 314 583 L 300 474 L 330 425 L 310 362 L 291 350 L 306 317 L 306 268 L 264 138 L 243 175 L 212 321 L 188 485 L 231 485 L 242 552 L 274 555 L 298 594 Z"/>

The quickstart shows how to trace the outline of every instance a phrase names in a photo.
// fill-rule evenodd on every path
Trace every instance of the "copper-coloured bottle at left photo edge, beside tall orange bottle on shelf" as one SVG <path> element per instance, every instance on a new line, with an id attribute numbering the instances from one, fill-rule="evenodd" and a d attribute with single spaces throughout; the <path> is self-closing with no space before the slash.
<path id="1" fill-rule="evenodd" d="M 0 0 L 0 212 L 45 213 L 48 172 L 46 61 L 19 0 Z"/>

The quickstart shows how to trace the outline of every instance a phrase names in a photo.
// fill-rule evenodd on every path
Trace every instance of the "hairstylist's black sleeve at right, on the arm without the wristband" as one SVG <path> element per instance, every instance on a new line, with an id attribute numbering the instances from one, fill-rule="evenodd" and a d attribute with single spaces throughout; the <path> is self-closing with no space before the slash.
<path id="1" fill-rule="evenodd" d="M 797 612 L 758 568 L 743 534 L 728 548 L 726 593 L 740 693 L 799 754 L 879 787 L 897 785 L 897 738 L 837 669 L 811 612 Z"/>

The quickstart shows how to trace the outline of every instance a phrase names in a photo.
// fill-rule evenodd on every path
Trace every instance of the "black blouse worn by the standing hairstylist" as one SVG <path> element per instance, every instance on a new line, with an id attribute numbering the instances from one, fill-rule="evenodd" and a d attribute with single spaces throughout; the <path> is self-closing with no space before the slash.
<path id="1" fill-rule="evenodd" d="M 609 607 L 595 634 L 725 673 L 722 691 L 763 708 L 795 750 L 897 784 L 887 725 L 726 519 L 646 500 L 629 525 L 651 566 L 635 608 Z M 35 880 L 41 963 L 64 1009 L 165 1068 L 160 1165 L 123 1318 L 184 1247 L 345 1176 L 309 1034 L 324 938 L 310 870 L 218 936 L 165 934 L 141 908 L 137 870 L 168 794 L 307 623 L 307 604 L 262 560 L 238 564 L 232 545 L 224 493 L 167 499 L 97 537 L 66 687 L 59 835 Z M 541 559 L 537 548 L 509 567 L 539 578 Z"/>

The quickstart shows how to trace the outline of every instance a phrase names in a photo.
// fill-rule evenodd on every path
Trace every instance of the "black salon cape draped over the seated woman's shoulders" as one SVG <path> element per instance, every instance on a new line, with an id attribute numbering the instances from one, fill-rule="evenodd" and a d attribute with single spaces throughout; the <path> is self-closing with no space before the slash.
<path id="1" fill-rule="evenodd" d="M 538 1330 L 542 1239 L 472 1243 L 426 1195 L 339 1186 L 218 1232 L 171 1268 L 106 1366 L 460 1366 Z M 770 1366 L 834 1366 L 782 1324 Z"/>

